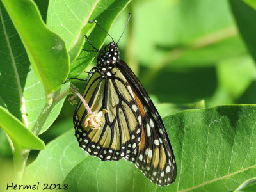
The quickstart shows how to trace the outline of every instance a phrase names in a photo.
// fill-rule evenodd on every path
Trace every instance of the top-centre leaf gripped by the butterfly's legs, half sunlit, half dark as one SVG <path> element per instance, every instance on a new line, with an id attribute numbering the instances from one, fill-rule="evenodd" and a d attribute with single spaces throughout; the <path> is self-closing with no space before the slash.
<path id="1" fill-rule="evenodd" d="M 76 40 L 81 40 L 84 36 L 83 28 L 89 20 L 97 20 L 97 23 L 106 31 L 109 31 L 113 21 L 124 10 L 131 0 L 90 0 L 90 1 L 56 1 L 49 3 L 49 13 L 47 15 L 47 26 L 60 34 L 67 43 L 68 50 L 76 44 Z M 100 48 L 107 34 L 99 27 L 95 27 L 89 36 L 95 47 Z M 91 50 L 92 46 L 86 43 L 86 49 Z M 75 51 L 76 52 L 76 51 Z M 79 58 L 71 63 L 69 77 L 77 77 L 95 57 L 95 52 L 81 52 Z M 86 62 L 84 62 L 86 61 Z"/>

